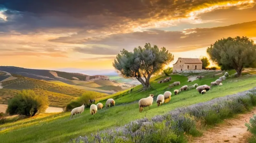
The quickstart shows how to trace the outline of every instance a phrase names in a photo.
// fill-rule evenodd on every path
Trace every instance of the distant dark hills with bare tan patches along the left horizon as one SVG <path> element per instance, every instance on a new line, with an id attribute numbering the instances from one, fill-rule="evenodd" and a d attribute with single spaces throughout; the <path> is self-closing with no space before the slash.
<path id="1" fill-rule="evenodd" d="M 108 76 L 104 76 L 104 75 L 89 76 L 82 73 L 26 69 L 26 68 L 14 67 L 14 66 L 0 66 L 0 83 L 2 83 L 3 85 L 4 81 L 16 79 L 17 77 L 12 76 L 14 74 L 16 76 L 20 75 L 30 79 L 52 81 L 54 84 L 57 84 L 57 85 L 66 83 L 65 86 L 69 86 L 69 87 L 73 86 L 74 88 L 77 88 L 77 89 L 95 91 L 95 92 L 100 92 L 105 94 L 114 94 L 117 91 L 124 90 L 118 84 L 110 81 Z M 23 87 L 20 87 L 20 85 L 15 87 L 15 89 L 19 89 L 19 90 L 21 88 Z"/>

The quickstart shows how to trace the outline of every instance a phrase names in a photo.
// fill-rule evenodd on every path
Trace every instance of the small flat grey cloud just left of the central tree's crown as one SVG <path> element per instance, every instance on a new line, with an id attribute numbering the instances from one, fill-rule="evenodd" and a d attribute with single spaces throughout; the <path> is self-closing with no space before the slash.
<path id="1" fill-rule="evenodd" d="M 119 52 L 118 49 L 110 49 L 110 48 L 96 47 L 96 46 L 92 46 L 90 48 L 76 47 L 73 49 L 73 51 L 84 53 L 84 54 L 93 54 L 93 55 L 116 55 Z"/>

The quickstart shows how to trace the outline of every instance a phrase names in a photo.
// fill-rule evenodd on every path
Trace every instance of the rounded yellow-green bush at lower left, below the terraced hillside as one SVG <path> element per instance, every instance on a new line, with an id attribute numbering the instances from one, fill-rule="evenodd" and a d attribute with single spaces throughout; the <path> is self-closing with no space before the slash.
<path id="1" fill-rule="evenodd" d="M 36 95 L 33 90 L 22 90 L 8 101 L 7 113 L 32 117 L 36 113 L 44 113 L 48 106 L 47 96 Z"/>

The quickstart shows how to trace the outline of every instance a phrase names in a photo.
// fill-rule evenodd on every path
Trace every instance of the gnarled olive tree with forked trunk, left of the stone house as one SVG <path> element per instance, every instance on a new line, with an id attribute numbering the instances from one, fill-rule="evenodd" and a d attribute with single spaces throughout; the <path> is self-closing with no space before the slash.
<path id="1" fill-rule="evenodd" d="M 146 43 L 144 48 L 139 46 L 134 48 L 133 52 L 123 49 L 121 54 L 116 56 L 113 66 L 124 78 L 135 77 L 144 89 L 148 89 L 150 77 L 160 72 L 173 59 L 174 56 L 166 48 L 159 49 L 156 45 L 151 47 L 150 43 Z"/>

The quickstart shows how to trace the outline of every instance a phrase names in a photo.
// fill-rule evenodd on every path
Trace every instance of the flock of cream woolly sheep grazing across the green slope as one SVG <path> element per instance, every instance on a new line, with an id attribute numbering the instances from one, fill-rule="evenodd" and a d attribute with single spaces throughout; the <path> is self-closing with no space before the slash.
<path id="1" fill-rule="evenodd" d="M 214 82 L 211 82 L 211 87 L 212 86 L 215 86 L 215 85 L 219 85 L 219 86 L 222 86 L 222 81 L 223 80 L 226 80 L 226 77 L 228 77 L 228 72 L 226 72 L 224 74 L 224 76 L 220 77 L 219 79 L 217 79 L 216 81 Z M 173 82 L 170 87 L 173 87 L 173 86 L 178 86 L 180 85 L 180 81 L 176 81 L 176 82 Z M 188 89 L 193 89 L 193 88 L 196 88 L 196 90 L 200 93 L 200 94 L 205 94 L 206 91 L 210 90 L 211 89 L 210 86 L 208 85 L 202 85 L 202 86 L 198 86 L 198 84 L 195 84 L 193 86 L 183 86 L 183 87 L 180 87 L 180 89 L 175 89 L 173 92 L 175 95 L 179 94 L 181 91 L 185 91 L 185 90 L 188 90 Z M 157 99 L 156 99 L 156 103 L 157 103 L 157 106 L 160 106 L 161 104 L 163 103 L 168 103 L 170 102 L 171 100 L 171 96 L 172 96 L 172 93 L 170 91 L 165 91 L 164 94 L 159 94 L 157 96 Z M 143 108 L 144 107 L 148 107 L 149 109 L 149 106 L 152 105 L 153 103 L 153 97 L 154 95 L 153 94 L 150 94 L 147 98 L 142 98 L 140 99 L 139 101 L 139 111 L 142 112 L 143 111 Z M 114 106 L 115 105 L 115 101 L 114 99 L 110 98 L 107 100 L 106 102 L 106 107 L 111 107 L 111 106 Z M 81 114 L 84 112 L 84 104 L 80 107 L 76 107 L 74 109 L 72 109 L 71 111 L 71 116 L 70 118 L 72 118 L 75 114 Z M 97 105 L 95 104 L 92 104 L 91 107 L 90 107 L 90 114 L 93 115 L 95 113 L 97 113 L 97 110 L 98 109 L 102 109 L 103 108 L 103 104 L 102 103 L 98 103 Z"/>

